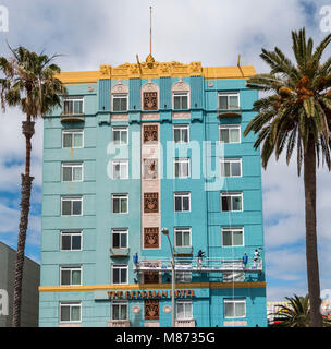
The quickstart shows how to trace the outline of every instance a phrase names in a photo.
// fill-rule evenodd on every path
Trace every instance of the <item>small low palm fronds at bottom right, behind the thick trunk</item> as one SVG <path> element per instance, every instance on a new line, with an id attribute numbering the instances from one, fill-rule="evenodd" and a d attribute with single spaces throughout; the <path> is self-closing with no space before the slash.
<path id="1" fill-rule="evenodd" d="M 281 323 L 273 324 L 272 327 L 309 327 L 310 326 L 310 308 L 309 294 L 299 297 L 285 297 L 289 305 L 277 305 Z M 323 327 L 330 327 L 331 322 L 328 317 L 322 320 Z"/>

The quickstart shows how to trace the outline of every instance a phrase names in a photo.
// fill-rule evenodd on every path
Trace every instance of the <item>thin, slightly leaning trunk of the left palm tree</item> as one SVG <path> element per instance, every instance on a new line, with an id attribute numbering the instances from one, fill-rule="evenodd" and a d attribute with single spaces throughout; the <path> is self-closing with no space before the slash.
<path id="1" fill-rule="evenodd" d="M 24 251 L 25 251 L 26 231 L 28 226 L 32 183 L 34 180 L 34 178 L 29 176 L 29 171 L 30 171 L 30 153 L 32 153 L 30 139 L 35 133 L 35 122 L 32 122 L 29 117 L 27 117 L 27 121 L 22 122 L 22 132 L 26 141 L 26 161 L 25 161 L 25 174 L 21 174 L 22 177 L 21 216 L 20 216 L 20 230 L 19 230 L 19 238 L 17 238 L 17 251 L 16 251 L 16 263 L 15 263 L 13 327 L 20 327 L 21 325 Z"/>

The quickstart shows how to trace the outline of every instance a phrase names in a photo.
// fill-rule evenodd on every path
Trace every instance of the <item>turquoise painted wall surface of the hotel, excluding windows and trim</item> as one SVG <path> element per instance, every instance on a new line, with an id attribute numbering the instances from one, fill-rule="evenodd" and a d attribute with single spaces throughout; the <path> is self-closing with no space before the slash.
<path id="1" fill-rule="evenodd" d="M 192 227 L 193 253 L 198 250 L 206 251 L 208 256 L 224 256 L 240 258 L 247 252 L 252 258 L 254 250 L 263 249 L 262 228 L 262 202 L 261 202 L 261 169 L 259 151 L 253 149 L 255 136 L 243 136 L 243 131 L 254 117 L 253 103 L 257 99 L 255 91 L 245 87 L 245 80 L 211 81 L 212 87 L 200 76 L 184 77 L 183 81 L 191 86 L 191 119 L 171 119 L 171 86 L 177 79 L 161 77 L 152 82 L 160 86 L 160 142 L 167 151 L 167 142 L 172 140 L 173 124 L 188 124 L 191 141 L 201 143 L 211 141 L 210 160 L 216 164 L 219 158 L 216 154 L 216 142 L 219 140 L 219 125 L 240 123 L 242 142 L 240 144 L 225 144 L 225 157 L 241 157 L 243 165 L 242 178 L 229 178 L 224 188 L 206 192 L 206 180 L 198 176 L 197 179 L 167 179 L 161 180 L 161 226 L 168 227 L 170 238 L 174 239 L 174 227 Z M 107 152 L 112 141 L 111 128 L 113 125 L 128 127 L 128 145 L 121 146 L 118 152 L 133 154 L 133 136 L 140 140 L 140 87 L 148 80 L 130 79 L 122 81 L 130 88 L 128 122 L 110 122 L 111 105 L 110 88 L 118 81 L 100 80 L 98 84 L 68 86 L 69 95 L 84 96 L 85 122 L 84 148 L 62 148 L 62 130 L 74 129 L 77 124 L 62 124 L 60 122 L 61 110 L 53 111 L 52 118 L 46 118 L 44 122 L 44 186 L 42 186 L 42 237 L 41 237 L 41 286 L 59 286 L 60 265 L 82 265 L 83 285 L 109 285 L 111 263 L 128 264 L 128 284 L 134 284 L 137 276 L 132 269 L 132 256 L 138 252 L 140 256 L 169 256 L 169 244 L 166 237 L 161 237 L 161 249 L 156 251 L 142 250 L 142 212 L 140 197 L 142 184 L 139 179 L 112 180 L 107 173 L 112 157 L 115 153 Z M 90 88 L 93 87 L 93 89 Z M 218 92 L 240 91 L 242 117 L 224 118 L 217 117 Z M 138 146 L 140 144 L 138 143 Z M 179 145 L 175 154 L 186 151 L 185 145 Z M 206 157 L 203 148 L 196 151 L 193 146 L 187 149 L 191 161 Z M 164 154 L 167 155 L 167 154 Z M 139 156 L 135 161 L 140 164 Z M 61 182 L 61 163 L 84 161 L 84 181 L 77 183 Z M 130 173 L 133 161 L 130 161 Z M 166 164 L 173 171 L 173 161 Z M 201 171 L 203 169 L 200 169 Z M 191 213 L 174 213 L 173 193 L 191 192 Z M 221 213 L 220 194 L 222 191 L 243 192 L 244 212 Z M 119 215 L 111 213 L 111 194 L 126 193 L 130 197 L 128 214 Z M 61 195 L 83 195 L 83 216 L 61 217 Z M 243 226 L 245 246 L 222 248 L 221 228 Z M 128 228 L 130 255 L 124 258 L 111 258 L 111 229 Z M 61 229 L 82 229 L 83 251 L 61 252 Z M 265 275 L 253 274 L 246 277 L 246 281 L 265 281 Z M 167 278 L 163 277 L 163 281 Z M 205 274 L 193 275 L 193 282 L 214 281 L 221 282 L 221 275 Z M 248 326 L 255 327 L 267 325 L 266 314 L 266 289 L 197 289 L 194 299 L 194 317 L 197 326 L 222 326 L 224 321 L 223 299 L 238 297 L 246 299 Z M 83 326 L 107 326 L 110 320 L 110 301 L 95 300 L 94 292 L 41 292 L 40 293 L 40 326 L 59 325 L 59 302 L 82 301 Z M 143 326 L 142 313 L 134 315 L 130 304 L 130 318 L 132 326 Z M 163 313 L 163 306 L 170 305 L 169 300 L 160 303 L 161 326 L 170 326 L 171 315 Z M 140 316 L 140 317 L 139 317 Z"/>

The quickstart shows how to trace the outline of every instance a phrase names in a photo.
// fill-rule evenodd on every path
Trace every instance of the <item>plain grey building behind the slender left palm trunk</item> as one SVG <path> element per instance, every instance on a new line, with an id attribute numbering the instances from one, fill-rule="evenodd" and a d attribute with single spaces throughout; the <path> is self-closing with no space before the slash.
<path id="1" fill-rule="evenodd" d="M 11 327 L 16 251 L 0 242 L 0 327 Z M 24 258 L 21 326 L 38 327 L 40 265 Z"/>

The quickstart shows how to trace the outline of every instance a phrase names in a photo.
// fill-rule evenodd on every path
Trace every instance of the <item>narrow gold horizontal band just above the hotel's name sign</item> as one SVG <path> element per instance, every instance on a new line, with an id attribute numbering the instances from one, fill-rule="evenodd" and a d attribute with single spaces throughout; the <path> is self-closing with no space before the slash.
<path id="1" fill-rule="evenodd" d="M 267 282 L 195 282 L 176 284 L 175 289 L 238 289 L 238 288 L 266 288 Z M 171 289 L 171 284 L 148 285 L 89 285 L 89 286 L 39 286 L 39 292 L 82 292 L 82 291 L 125 291 L 125 290 L 150 290 Z"/>

